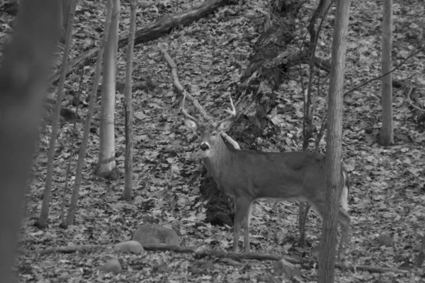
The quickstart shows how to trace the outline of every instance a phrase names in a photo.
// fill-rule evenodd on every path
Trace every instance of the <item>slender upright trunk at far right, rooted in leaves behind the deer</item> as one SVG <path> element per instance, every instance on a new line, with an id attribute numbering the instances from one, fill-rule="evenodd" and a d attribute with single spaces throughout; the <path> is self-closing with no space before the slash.
<path id="1" fill-rule="evenodd" d="M 382 74 L 391 70 L 392 50 L 392 0 L 384 0 L 382 8 Z M 382 77 L 382 128 L 379 143 L 389 146 L 394 141 L 392 123 L 392 79 L 391 73 Z"/>

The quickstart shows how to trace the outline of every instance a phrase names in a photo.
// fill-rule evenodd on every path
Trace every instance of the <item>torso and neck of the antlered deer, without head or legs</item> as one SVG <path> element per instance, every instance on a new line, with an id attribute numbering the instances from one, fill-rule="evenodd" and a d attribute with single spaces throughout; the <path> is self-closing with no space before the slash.
<path id="1" fill-rule="evenodd" d="M 222 140 L 213 150 L 203 163 L 217 185 L 234 197 L 324 198 L 317 195 L 326 186 L 322 154 L 237 150 Z"/>

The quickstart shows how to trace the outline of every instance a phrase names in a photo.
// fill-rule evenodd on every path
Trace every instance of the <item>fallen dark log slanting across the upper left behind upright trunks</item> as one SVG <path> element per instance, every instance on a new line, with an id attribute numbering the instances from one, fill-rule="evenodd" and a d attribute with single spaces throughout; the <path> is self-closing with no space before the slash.
<path id="1" fill-rule="evenodd" d="M 150 25 L 147 25 L 147 27 L 137 30 L 134 44 L 138 45 L 150 40 L 155 40 L 170 33 L 174 28 L 190 25 L 194 21 L 198 21 L 200 18 L 213 13 L 217 8 L 224 6 L 227 3 L 229 3 L 229 0 L 207 0 L 203 4 L 200 4 L 191 10 L 182 11 L 170 16 L 163 16 L 155 23 L 151 23 Z M 128 45 L 128 33 L 120 35 L 118 39 L 118 46 L 123 47 L 126 45 Z M 69 62 L 69 70 L 67 71 L 67 74 L 69 74 L 69 72 L 71 72 L 71 70 L 75 67 L 83 67 L 91 64 L 91 59 L 94 59 L 97 52 L 98 48 L 94 48 L 85 52 L 80 57 L 75 58 L 72 62 Z M 57 79 L 59 79 L 59 75 L 60 69 L 52 76 L 50 84 L 55 83 Z"/>

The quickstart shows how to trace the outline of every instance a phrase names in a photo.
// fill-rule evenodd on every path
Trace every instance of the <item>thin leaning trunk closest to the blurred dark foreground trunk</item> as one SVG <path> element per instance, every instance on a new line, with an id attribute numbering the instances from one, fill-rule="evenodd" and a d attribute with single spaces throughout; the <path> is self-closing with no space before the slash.
<path id="1" fill-rule="evenodd" d="M 50 196 L 52 194 L 52 175 L 53 175 L 53 163 L 55 162 L 55 145 L 56 145 L 56 138 L 57 138 L 57 127 L 59 125 L 60 105 L 62 103 L 62 97 L 64 94 L 65 79 L 67 79 L 66 74 L 67 74 L 69 49 L 71 47 L 71 42 L 72 42 L 72 38 L 71 38 L 72 23 L 74 23 L 75 7 L 77 6 L 77 0 L 72 0 L 72 1 L 73 1 L 72 9 L 71 9 L 72 16 L 69 17 L 69 23 L 68 23 L 69 29 L 67 30 L 64 55 L 62 57 L 62 72 L 60 75 L 59 86 L 57 89 L 55 113 L 52 117 L 52 134 L 50 136 L 49 152 L 47 154 L 48 161 L 47 161 L 46 183 L 45 183 L 45 189 L 44 189 L 43 197 L 42 197 L 40 217 L 38 219 L 38 227 L 42 229 L 47 226 L 47 218 L 49 217 L 49 205 L 50 205 L 49 202 L 50 202 Z"/>

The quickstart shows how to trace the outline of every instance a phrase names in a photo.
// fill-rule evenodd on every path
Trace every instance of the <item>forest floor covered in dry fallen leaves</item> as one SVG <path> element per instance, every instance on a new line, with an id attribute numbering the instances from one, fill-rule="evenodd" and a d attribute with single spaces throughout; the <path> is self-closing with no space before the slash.
<path id="1" fill-rule="evenodd" d="M 202 1 L 142 1 L 137 15 L 137 28 L 157 21 L 166 14 L 197 6 Z M 242 2 L 242 1 L 241 1 Z M 135 184 L 133 199 L 120 200 L 124 180 L 103 180 L 92 172 L 98 156 L 98 132 L 91 134 L 81 184 L 79 206 L 74 225 L 60 228 L 62 192 L 67 163 L 72 158 L 75 171 L 77 154 L 69 140 L 72 124 L 60 127 L 57 140 L 49 227 L 34 226 L 40 214 L 45 185 L 50 125 L 42 127 L 38 154 L 23 219 L 16 272 L 21 282 L 259 282 L 262 275 L 273 274 L 270 260 L 196 259 L 191 254 L 170 251 L 147 252 L 143 255 L 115 255 L 109 249 L 91 253 L 50 253 L 38 255 L 35 250 L 69 245 L 113 244 L 127 241 L 145 219 L 157 219 L 161 224 L 177 229 L 182 246 L 229 250 L 232 227 L 199 225 L 205 219 L 204 200 L 200 199 L 198 181 L 201 163 L 196 158 L 196 137 L 183 125 L 179 114 L 179 97 L 174 92 L 171 72 L 162 57 L 165 48 L 175 60 L 181 84 L 200 101 L 203 107 L 218 117 L 227 108 L 227 98 L 237 88 L 239 77 L 249 63 L 249 54 L 263 21 L 263 8 L 247 2 L 224 6 L 200 21 L 173 30 L 170 35 L 135 47 L 133 78 L 146 87 L 133 93 L 135 112 Z M 74 23 L 72 57 L 98 45 L 103 30 L 105 10 L 98 1 L 79 1 Z M 359 0 L 351 4 L 351 16 L 346 60 L 347 91 L 359 83 L 380 74 L 380 42 L 382 1 Z M 267 7 L 269 8 L 269 7 Z M 306 4 L 299 19 L 298 44 L 305 36 L 306 26 L 314 10 Z M 129 6 L 123 1 L 120 30 L 128 32 Z M 395 0 L 393 62 L 406 58 L 420 40 L 424 40 L 425 8 L 423 1 Z M 11 33 L 13 17 L 0 6 L 3 31 L 1 42 Z M 334 8 L 324 22 L 317 55 L 330 60 Z M 63 47 L 61 47 L 63 49 Z M 125 79 L 125 51 L 118 55 L 118 81 Z M 61 53 L 60 53 L 61 54 Z M 57 62 L 61 55 L 58 54 Z M 265 151 L 300 150 L 302 144 L 302 87 L 307 84 L 307 66 L 290 69 L 288 78 L 278 90 L 279 108 L 287 109 L 276 118 L 281 124 L 280 136 L 273 142 L 261 140 Z M 351 214 L 350 241 L 347 260 L 353 265 L 412 270 L 407 275 L 395 272 L 370 273 L 336 270 L 336 282 L 425 282 L 414 275 L 422 269 L 414 267 L 425 229 L 425 126 L 416 121 L 417 113 L 409 105 L 409 86 L 425 100 L 425 54 L 419 53 L 393 73 L 401 81 L 394 88 L 395 141 L 392 146 L 376 143 L 380 132 L 380 80 L 358 88 L 344 98 L 343 151 L 344 165 L 351 174 L 349 206 Z M 88 96 L 94 65 L 86 68 L 81 93 Z M 322 74 L 324 77 L 325 74 Z M 68 76 L 66 96 L 62 106 L 71 104 L 79 90 L 79 74 Z M 316 78 L 317 79 L 317 78 Z M 320 125 L 326 109 L 327 83 L 317 96 L 314 121 Z M 52 90 L 55 93 L 56 89 Z M 317 91 L 317 89 L 316 89 Z M 325 94 L 324 94 L 325 93 Z M 99 102 L 99 100 L 98 100 Z M 116 96 L 115 144 L 117 168 L 123 177 L 125 129 L 123 91 Z M 71 107 L 71 106 L 69 106 Z M 196 115 L 193 108 L 189 110 Z M 98 125 L 97 103 L 94 124 Z M 84 118 L 86 108 L 79 110 Z M 77 125 L 77 150 L 81 141 L 84 119 Z M 261 139 L 261 137 L 259 138 Z M 75 146 L 74 146 L 75 147 Z M 321 150 L 324 141 L 321 142 Z M 73 181 L 73 179 L 71 179 Z M 69 186 L 72 187 L 72 182 Z M 68 192 L 70 190 L 68 189 Z M 254 204 L 251 220 L 251 250 L 258 253 L 302 255 L 317 258 L 317 246 L 322 221 L 310 213 L 307 221 L 307 248 L 297 246 L 297 202 Z M 118 258 L 124 267 L 118 275 L 101 272 L 100 266 Z M 142 270 L 131 262 L 142 264 Z M 276 275 L 280 282 L 316 282 L 317 269 L 301 268 L 300 275 L 288 279 Z M 268 279 L 263 279 L 268 281 Z M 273 281 L 268 281 L 273 282 Z"/>

